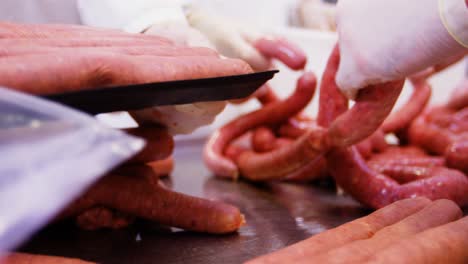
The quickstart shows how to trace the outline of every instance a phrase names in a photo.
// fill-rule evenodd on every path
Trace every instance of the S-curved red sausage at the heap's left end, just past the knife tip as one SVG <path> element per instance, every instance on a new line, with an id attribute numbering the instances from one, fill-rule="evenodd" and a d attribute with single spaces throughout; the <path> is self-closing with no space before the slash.
<path id="1" fill-rule="evenodd" d="M 298 80 L 296 90 L 289 98 L 241 116 L 215 131 L 205 145 L 203 157 L 206 166 L 218 176 L 236 179 L 239 176 L 237 166 L 223 156 L 231 141 L 253 128 L 279 124 L 297 114 L 312 99 L 315 85 L 315 75 L 306 72 Z"/>

